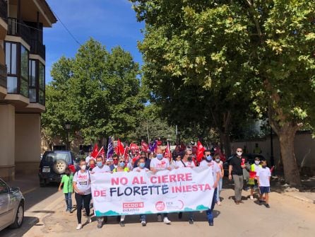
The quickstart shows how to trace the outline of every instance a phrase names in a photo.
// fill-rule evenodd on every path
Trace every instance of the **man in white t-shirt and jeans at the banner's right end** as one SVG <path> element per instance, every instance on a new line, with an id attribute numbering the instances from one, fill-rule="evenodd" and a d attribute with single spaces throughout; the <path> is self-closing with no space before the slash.
<path id="1" fill-rule="evenodd" d="M 218 188 L 218 183 L 220 180 L 221 170 L 220 170 L 218 164 L 215 161 L 213 161 L 213 158 L 211 156 L 211 152 L 209 150 L 203 151 L 203 157 L 204 157 L 204 160 L 201 161 L 199 166 L 210 168 L 212 170 L 211 173 L 213 175 L 213 182 L 214 182 L 213 188 L 215 190 L 213 192 L 213 199 L 212 199 L 211 208 L 209 208 L 206 212 L 208 224 L 209 224 L 209 226 L 213 226 L 213 220 L 214 220 L 213 209 L 215 207 L 215 202 L 217 201 L 217 188 Z"/>

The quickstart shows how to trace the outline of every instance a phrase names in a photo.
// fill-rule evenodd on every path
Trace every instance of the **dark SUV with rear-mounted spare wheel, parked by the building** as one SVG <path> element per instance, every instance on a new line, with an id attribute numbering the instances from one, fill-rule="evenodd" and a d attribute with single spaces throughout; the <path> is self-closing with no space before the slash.
<path id="1" fill-rule="evenodd" d="M 40 186 L 44 187 L 50 182 L 59 183 L 69 165 L 76 166 L 76 159 L 71 151 L 45 151 L 38 170 Z"/>

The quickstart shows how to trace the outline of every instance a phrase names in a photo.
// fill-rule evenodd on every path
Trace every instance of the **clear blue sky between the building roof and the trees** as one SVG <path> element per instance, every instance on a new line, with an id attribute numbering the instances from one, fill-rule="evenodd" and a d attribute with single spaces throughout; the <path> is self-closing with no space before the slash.
<path id="1" fill-rule="evenodd" d="M 90 37 L 100 41 L 107 50 L 121 45 L 131 52 L 135 62 L 141 64 L 137 40 L 142 40 L 140 30 L 144 23 L 136 21 L 136 13 L 128 0 L 47 0 L 49 6 L 83 44 Z M 66 29 L 57 22 L 44 29 L 46 45 L 46 83 L 51 81 L 50 69 L 61 56 L 74 57 L 76 43 Z"/>

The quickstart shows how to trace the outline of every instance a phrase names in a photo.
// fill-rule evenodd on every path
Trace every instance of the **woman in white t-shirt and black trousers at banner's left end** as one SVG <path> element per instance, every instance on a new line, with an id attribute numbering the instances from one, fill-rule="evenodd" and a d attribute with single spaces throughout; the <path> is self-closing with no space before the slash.
<path id="1" fill-rule="evenodd" d="M 91 223 L 90 219 L 90 200 L 91 195 L 91 184 L 90 184 L 90 172 L 86 170 L 85 159 L 82 159 L 79 163 L 80 170 L 76 171 L 73 176 L 73 188 L 76 198 L 76 217 L 78 219 L 77 230 L 82 229 L 81 224 L 81 211 L 82 211 L 82 200 L 84 202 L 86 216 L 88 217 L 87 223 Z"/>

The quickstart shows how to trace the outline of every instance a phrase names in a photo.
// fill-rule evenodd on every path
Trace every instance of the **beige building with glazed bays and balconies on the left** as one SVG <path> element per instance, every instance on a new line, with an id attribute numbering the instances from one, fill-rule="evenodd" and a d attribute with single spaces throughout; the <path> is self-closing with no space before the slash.
<path id="1" fill-rule="evenodd" d="M 45 110 L 43 30 L 57 18 L 44 0 L 0 0 L 0 176 L 36 173 Z"/>

